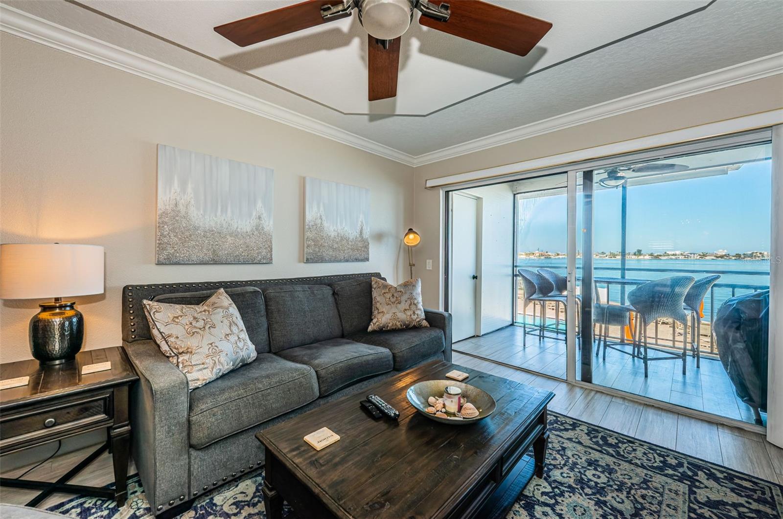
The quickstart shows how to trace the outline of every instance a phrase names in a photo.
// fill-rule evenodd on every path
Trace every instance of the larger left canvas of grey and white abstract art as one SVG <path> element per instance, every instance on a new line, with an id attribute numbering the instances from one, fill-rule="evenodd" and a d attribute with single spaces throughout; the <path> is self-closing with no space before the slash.
<path id="1" fill-rule="evenodd" d="M 157 263 L 272 263 L 274 172 L 157 146 Z"/>

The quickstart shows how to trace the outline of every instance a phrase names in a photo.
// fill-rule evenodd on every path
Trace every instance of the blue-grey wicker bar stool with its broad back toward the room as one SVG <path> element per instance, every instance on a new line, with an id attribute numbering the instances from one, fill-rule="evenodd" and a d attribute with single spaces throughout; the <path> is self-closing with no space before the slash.
<path id="1" fill-rule="evenodd" d="M 655 279 L 634 288 L 628 293 L 628 302 L 639 315 L 635 343 L 636 350 L 642 353 L 644 359 L 644 377 L 648 376 L 648 364 L 654 360 L 682 359 L 683 374 L 686 371 L 687 359 L 687 314 L 684 310 L 685 294 L 695 282 L 692 276 L 672 276 Z M 683 351 L 681 355 L 671 355 L 670 351 L 650 346 L 647 341 L 647 327 L 658 319 L 672 319 L 672 335 L 676 335 L 677 324 L 684 326 Z M 643 350 L 643 351 L 642 351 Z M 650 357 L 648 350 L 660 351 L 669 355 Z M 638 354 L 637 354 L 638 355 Z"/>

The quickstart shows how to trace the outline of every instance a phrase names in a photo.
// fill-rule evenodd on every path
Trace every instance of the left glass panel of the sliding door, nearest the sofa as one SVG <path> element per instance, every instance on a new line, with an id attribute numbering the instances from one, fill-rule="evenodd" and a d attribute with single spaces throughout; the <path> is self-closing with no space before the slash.
<path id="1" fill-rule="evenodd" d="M 454 349 L 565 379 L 565 173 L 449 193 Z"/>

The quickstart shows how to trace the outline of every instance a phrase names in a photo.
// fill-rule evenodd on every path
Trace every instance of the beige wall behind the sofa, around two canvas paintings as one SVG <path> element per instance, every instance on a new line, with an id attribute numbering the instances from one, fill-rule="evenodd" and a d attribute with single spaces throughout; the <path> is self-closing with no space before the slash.
<path id="1" fill-rule="evenodd" d="M 0 241 L 106 247 L 106 293 L 77 298 L 85 348 L 120 344 L 127 283 L 367 271 L 402 279 L 412 168 L 31 41 L 0 38 Z M 159 142 L 274 169 L 272 265 L 155 265 Z M 302 263 L 306 175 L 370 189 L 369 263 Z M 37 301 L 2 301 L 0 362 L 30 358 L 27 323 L 37 310 Z"/>

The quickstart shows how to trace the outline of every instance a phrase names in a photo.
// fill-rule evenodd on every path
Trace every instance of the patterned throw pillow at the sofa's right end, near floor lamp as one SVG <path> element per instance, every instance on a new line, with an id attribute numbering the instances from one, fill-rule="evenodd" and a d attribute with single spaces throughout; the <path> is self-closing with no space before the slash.
<path id="1" fill-rule="evenodd" d="M 373 320 L 368 332 L 428 326 L 421 304 L 421 279 L 408 279 L 395 287 L 373 278 Z"/>

